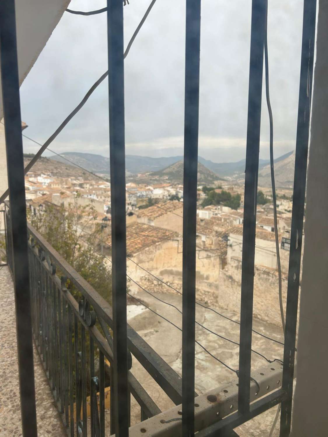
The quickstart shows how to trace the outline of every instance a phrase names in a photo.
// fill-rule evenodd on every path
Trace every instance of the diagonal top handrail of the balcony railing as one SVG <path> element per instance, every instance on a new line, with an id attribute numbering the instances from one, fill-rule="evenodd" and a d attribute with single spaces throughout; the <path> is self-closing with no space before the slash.
<path id="1" fill-rule="evenodd" d="M 56 265 L 60 271 L 70 279 L 73 285 L 90 302 L 104 321 L 113 328 L 112 307 L 99 295 L 90 284 L 80 276 L 68 264 L 64 258 L 45 239 L 31 226 L 28 225 L 29 232 L 38 244 L 47 252 L 49 256 L 56 260 Z M 127 326 L 128 348 L 136 359 L 143 365 L 147 372 L 154 378 L 164 392 L 178 405 L 182 399 L 181 377 L 163 360 L 143 338 L 136 333 L 131 326 Z"/>

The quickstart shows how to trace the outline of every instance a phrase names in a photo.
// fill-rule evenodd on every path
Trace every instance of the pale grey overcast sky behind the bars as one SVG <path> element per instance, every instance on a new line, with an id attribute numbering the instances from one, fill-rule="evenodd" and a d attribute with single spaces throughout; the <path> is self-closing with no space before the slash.
<path id="1" fill-rule="evenodd" d="M 125 46 L 150 0 L 124 7 Z M 93 10 L 105 0 L 72 0 Z M 269 73 L 275 156 L 295 147 L 303 0 L 269 0 Z M 106 14 L 64 13 L 21 86 L 24 131 L 44 142 L 108 69 Z M 245 157 L 251 0 L 202 0 L 199 155 Z M 183 154 L 185 0 L 157 0 L 125 60 L 126 153 Z M 263 87 L 261 158 L 269 157 Z M 108 81 L 50 146 L 57 152 L 109 155 Z M 25 153 L 37 146 L 24 139 Z M 45 155 L 49 153 L 45 153 Z"/>

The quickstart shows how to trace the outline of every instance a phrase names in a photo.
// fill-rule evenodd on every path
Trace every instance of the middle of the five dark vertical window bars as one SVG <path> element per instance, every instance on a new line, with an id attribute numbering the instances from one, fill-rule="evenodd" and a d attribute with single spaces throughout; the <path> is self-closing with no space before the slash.
<path id="1" fill-rule="evenodd" d="M 200 0 L 186 3 L 182 254 L 182 434 L 194 435 Z"/>

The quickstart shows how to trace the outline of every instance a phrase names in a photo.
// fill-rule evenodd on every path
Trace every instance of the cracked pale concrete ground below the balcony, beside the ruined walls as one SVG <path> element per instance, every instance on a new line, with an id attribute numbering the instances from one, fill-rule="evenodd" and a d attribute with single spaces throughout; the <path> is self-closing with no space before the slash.
<path id="1" fill-rule="evenodd" d="M 145 305 L 153 309 L 157 314 L 164 316 L 172 323 L 181 328 L 182 316 L 172 306 L 165 305 L 158 301 L 160 298 L 171 305 L 175 305 L 178 309 L 182 309 L 181 295 L 172 295 L 171 293 L 156 293 L 153 295 L 147 294 L 145 291 L 136 290 L 134 292 L 136 298 L 142 301 Z M 137 302 L 136 302 L 137 303 Z M 216 308 L 225 316 L 231 319 L 238 320 L 238 315 L 226 310 Z M 211 331 L 227 337 L 230 340 L 239 342 L 239 325 L 230 322 L 223 317 L 218 316 L 213 311 L 202 308 L 196 305 L 196 320 Z M 157 316 L 149 309 L 142 305 L 129 305 L 129 324 L 150 344 L 151 347 L 159 354 L 174 370 L 181 375 L 181 354 L 182 354 L 182 334 L 176 327 Z M 253 320 L 253 328 L 260 333 L 263 333 L 276 340 L 282 341 L 282 329 L 264 323 L 258 319 Z M 238 354 L 239 347 L 223 340 L 216 335 L 209 333 L 206 329 L 196 325 L 196 340 L 206 347 L 211 354 L 218 357 L 221 361 L 228 364 L 234 369 L 238 369 Z M 266 340 L 262 336 L 253 333 L 252 349 L 257 350 L 265 357 L 273 360 L 274 358 L 283 358 L 283 346 L 278 343 Z M 195 390 L 198 394 L 205 393 L 211 388 L 222 385 L 224 382 L 229 382 L 236 378 L 234 372 L 230 371 L 214 358 L 212 358 L 205 350 L 196 344 L 196 359 L 195 359 Z M 267 364 L 266 361 L 252 354 L 252 369 Z M 153 378 L 147 374 L 138 361 L 133 361 L 133 374 L 138 378 L 150 396 L 154 399 L 162 411 L 174 406 L 173 402 L 165 395 L 163 390 L 154 382 Z M 269 436 L 276 409 L 272 408 L 261 416 L 245 423 L 236 431 L 241 437 Z M 132 409 L 132 424 L 138 423 L 140 409 Z M 276 425 L 273 436 L 279 436 L 279 421 Z"/>

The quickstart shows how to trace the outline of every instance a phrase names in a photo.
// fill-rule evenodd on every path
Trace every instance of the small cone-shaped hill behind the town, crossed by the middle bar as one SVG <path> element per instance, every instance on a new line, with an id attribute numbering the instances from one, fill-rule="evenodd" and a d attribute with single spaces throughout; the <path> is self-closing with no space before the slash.
<path id="1" fill-rule="evenodd" d="M 150 177 L 163 177 L 170 182 L 178 184 L 183 183 L 183 160 L 171 164 L 163 170 L 155 171 L 149 174 Z M 202 163 L 198 163 L 197 180 L 199 184 L 213 184 L 216 180 L 222 180 L 216 173 L 209 170 Z"/>

